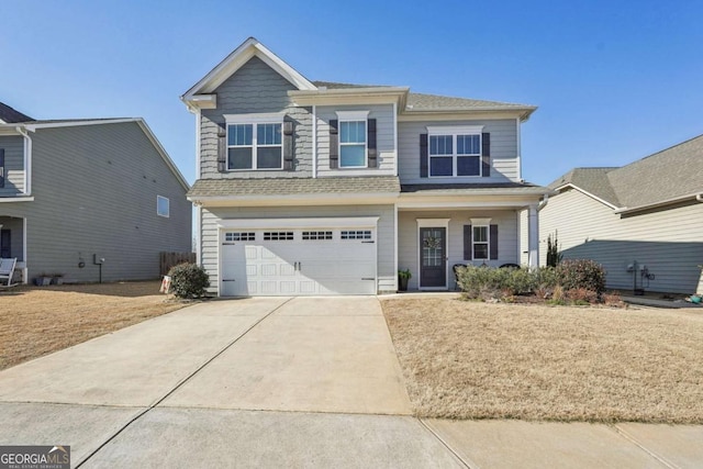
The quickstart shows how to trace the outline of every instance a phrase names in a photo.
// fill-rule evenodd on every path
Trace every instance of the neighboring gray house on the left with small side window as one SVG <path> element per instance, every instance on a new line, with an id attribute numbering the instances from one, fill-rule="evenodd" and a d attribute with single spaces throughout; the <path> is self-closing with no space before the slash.
<path id="1" fill-rule="evenodd" d="M 0 103 L 0 257 L 22 281 L 158 278 L 159 252 L 191 250 L 188 189 L 142 119 L 37 121 Z"/>

